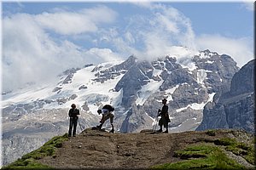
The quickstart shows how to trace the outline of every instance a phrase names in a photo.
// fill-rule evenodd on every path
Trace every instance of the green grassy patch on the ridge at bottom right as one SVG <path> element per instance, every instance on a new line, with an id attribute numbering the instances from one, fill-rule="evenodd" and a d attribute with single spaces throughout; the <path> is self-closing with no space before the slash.
<path id="1" fill-rule="evenodd" d="M 208 130 L 207 134 L 214 136 L 215 130 Z M 230 138 L 190 144 L 184 150 L 177 150 L 174 154 L 185 161 L 156 165 L 153 169 L 245 169 L 246 167 L 226 156 L 224 150 L 231 151 L 236 156 L 241 156 L 255 165 L 253 145 L 253 142 L 248 145 Z"/>

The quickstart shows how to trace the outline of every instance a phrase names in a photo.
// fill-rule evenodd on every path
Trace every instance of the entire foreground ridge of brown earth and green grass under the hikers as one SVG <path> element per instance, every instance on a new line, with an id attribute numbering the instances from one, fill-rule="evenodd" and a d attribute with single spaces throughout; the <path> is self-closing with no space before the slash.
<path id="1" fill-rule="evenodd" d="M 55 137 L 3 169 L 253 169 L 253 138 L 232 129 L 108 133 L 87 128 L 76 137 Z"/>

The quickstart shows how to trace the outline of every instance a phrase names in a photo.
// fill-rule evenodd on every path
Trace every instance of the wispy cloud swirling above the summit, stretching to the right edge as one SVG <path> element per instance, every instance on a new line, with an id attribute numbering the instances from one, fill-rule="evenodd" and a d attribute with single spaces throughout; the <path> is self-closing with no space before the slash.
<path id="1" fill-rule="evenodd" d="M 150 10 L 151 15 L 131 17 L 125 28 L 126 38 L 108 38 L 120 51 L 126 50 L 127 53 L 136 54 L 142 59 L 155 59 L 172 54 L 172 46 L 183 46 L 192 50 L 208 48 L 218 54 L 228 54 L 240 67 L 253 59 L 253 40 L 250 38 L 230 38 L 221 35 L 195 37 L 191 21 L 176 8 L 155 3 L 135 4 Z M 127 38 L 127 32 L 130 38 Z M 132 43 L 129 39 L 133 40 Z"/>

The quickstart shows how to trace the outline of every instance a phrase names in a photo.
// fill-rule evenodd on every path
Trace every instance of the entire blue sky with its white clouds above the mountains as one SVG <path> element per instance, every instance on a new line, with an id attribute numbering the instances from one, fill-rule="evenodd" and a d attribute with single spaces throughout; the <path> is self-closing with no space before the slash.
<path id="1" fill-rule="evenodd" d="M 172 46 L 242 66 L 253 59 L 253 12 L 252 2 L 3 2 L 3 90 L 87 63 L 154 59 Z"/>

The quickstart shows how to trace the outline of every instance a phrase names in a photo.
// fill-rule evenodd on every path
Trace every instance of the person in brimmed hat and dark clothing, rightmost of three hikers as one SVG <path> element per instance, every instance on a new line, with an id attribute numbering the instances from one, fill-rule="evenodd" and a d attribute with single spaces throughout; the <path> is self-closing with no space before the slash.
<path id="1" fill-rule="evenodd" d="M 168 115 L 168 106 L 166 105 L 167 99 L 162 99 L 162 110 L 158 110 L 159 115 L 161 116 L 160 121 L 159 121 L 159 126 L 160 129 L 157 132 L 163 132 L 163 125 L 166 127 L 166 131 L 164 133 L 168 133 L 168 122 L 170 122 L 170 118 Z"/>

